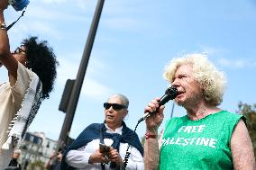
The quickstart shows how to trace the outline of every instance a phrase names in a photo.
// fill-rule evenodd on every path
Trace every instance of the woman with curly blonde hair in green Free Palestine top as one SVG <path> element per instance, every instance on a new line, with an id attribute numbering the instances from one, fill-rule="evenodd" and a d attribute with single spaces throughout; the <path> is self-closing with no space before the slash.
<path id="1" fill-rule="evenodd" d="M 187 115 L 168 120 L 158 140 L 164 105 L 156 98 L 145 107 L 145 113 L 154 112 L 146 119 L 145 169 L 255 170 L 245 118 L 217 107 L 223 102 L 226 79 L 206 54 L 173 58 L 163 76 L 177 88 L 175 102 Z"/>

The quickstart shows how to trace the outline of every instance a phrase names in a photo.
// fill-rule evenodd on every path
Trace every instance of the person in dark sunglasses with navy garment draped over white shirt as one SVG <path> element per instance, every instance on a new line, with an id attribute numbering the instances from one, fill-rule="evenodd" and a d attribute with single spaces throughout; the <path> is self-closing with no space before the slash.
<path id="1" fill-rule="evenodd" d="M 90 124 L 80 133 L 65 151 L 61 170 L 71 167 L 80 170 L 121 169 L 123 164 L 127 165 L 127 170 L 144 169 L 140 139 L 123 121 L 128 113 L 128 105 L 129 101 L 123 94 L 110 96 L 104 103 L 104 123 Z M 131 155 L 125 159 L 129 145 Z"/>

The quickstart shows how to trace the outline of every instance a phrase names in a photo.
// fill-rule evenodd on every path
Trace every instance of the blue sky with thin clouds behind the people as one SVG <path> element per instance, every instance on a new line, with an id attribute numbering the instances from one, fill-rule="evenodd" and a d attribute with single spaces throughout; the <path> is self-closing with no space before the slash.
<path id="1" fill-rule="evenodd" d="M 65 114 L 59 102 L 67 79 L 74 79 L 96 9 L 96 0 L 31 0 L 23 18 L 8 31 L 11 49 L 30 35 L 48 40 L 59 60 L 58 79 L 43 101 L 30 131 L 59 139 Z M 5 11 L 10 24 L 21 14 Z M 111 94 L 130 99 L 127 125 L 134 129 L 143 108 L 164 94 L 164 66 L 187 52 L 207 52 L 228 79 L 224 110 L 237 111 L 239 101 L 255 103 L 256 2 L 254 0 L 105 0 L 96 40 L 70 137 L 92 122 L 104 121 L 103 103 Z M 4 67 L 0 80 L 6 80 Z M 166 104 L 165 120 L 172 103 Z M 186 112 L 175 106 L 174 116 Z M 162 128 L 162 126 L 160 127 Z M 142 122 L 137 132 L 145 132 Z"/>

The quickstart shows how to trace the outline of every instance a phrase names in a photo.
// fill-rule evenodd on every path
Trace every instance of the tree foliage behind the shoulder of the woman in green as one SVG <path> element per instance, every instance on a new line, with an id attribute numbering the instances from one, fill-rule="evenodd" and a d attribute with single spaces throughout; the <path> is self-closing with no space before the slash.
<path id="1" fill-rule="evenodd" d="M 249 131 L 251 142 L 256 155 L 256 103 L 253 105 L 247 103 L 238 103 L 239 111 L 246 118 L 247 129 Z"/>

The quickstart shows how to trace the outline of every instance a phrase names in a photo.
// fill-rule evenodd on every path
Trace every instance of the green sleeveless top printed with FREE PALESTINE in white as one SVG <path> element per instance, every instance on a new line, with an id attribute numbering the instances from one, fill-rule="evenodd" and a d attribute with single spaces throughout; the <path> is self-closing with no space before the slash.
<path id="1" fill-rule="evenodd" d="M 167 121 L 160 148 L 160 170 L 233 169 L 230 141 L 242 115 L 216 112 L 190 121 Z"/>

